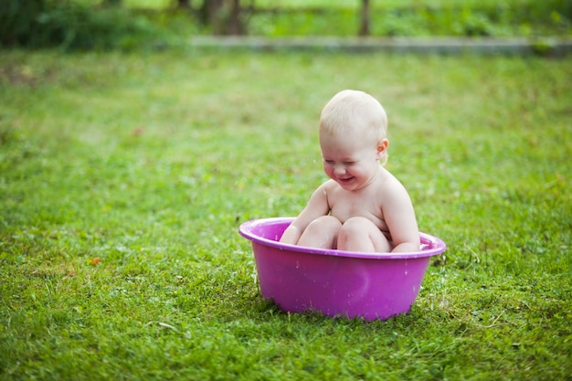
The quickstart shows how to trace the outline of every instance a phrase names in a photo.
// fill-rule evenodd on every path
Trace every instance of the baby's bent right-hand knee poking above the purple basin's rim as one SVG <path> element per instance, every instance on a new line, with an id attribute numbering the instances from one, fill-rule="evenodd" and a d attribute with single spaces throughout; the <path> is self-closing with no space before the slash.
<path id="1" fill-rule="evenodd" d="M 365 217 L 352 217 L 344 222 L 338 235 L 338 249 L 361 252 L 390 252 L 386 236 Z"/>

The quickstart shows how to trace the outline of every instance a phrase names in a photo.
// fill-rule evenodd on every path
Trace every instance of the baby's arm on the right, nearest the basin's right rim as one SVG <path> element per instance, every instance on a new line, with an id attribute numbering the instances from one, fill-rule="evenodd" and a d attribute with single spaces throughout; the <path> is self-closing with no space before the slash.
<path id="1" fill-rule="evenodd" d="M 397 180 L 387 189 L 383 212 L 393 240 L 392 252 L 419 251 L 419 230 L 415 211 L 407 190 Z"/>

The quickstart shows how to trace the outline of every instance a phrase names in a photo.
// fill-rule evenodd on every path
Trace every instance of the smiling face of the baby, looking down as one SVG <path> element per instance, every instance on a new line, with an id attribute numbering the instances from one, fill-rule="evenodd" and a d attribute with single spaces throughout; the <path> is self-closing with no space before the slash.
<path id="1" fill-rule="evenodd" d="M 379 173 L 378 144 L 359 133 L 320 133 L 323 170 L 345 190 L 369 185 Z"/>

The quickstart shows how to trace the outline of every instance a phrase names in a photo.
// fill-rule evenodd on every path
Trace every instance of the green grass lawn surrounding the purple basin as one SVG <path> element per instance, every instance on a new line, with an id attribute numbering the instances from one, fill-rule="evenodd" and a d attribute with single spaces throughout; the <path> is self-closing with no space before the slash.
<path id="1" fill-rule="evenodd" d="M 571 379 L 571 58 L 4 51 L 0 74 L 1 379 Z M 280 312 L 238 235 L 323 181 L 344 88 L 385 105 L 387 167 L 448 244 L 386 322 Z"/>

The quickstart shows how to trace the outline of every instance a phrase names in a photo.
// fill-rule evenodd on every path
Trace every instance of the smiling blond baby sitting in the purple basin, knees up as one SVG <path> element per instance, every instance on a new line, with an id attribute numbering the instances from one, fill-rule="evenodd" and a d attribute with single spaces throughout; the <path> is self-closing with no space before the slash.
<path id="1" fill-rule="evenodd" d="M 323 170 L 330 180 L 312 194 L 281 242 L 360 252 L 413 252 L 417 220 L 408 192 L 387 161 L 387 115 L 371 95 L 343 90 L 320 118 Z"/>

